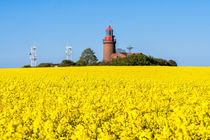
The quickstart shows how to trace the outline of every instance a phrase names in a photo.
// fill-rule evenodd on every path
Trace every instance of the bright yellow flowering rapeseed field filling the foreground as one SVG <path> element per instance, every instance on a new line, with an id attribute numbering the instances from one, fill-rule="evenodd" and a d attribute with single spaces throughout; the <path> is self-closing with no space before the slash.
<path id="1" fill-rule="evenodd" d="M 0 69 L 0 139 L 210 139 L 210 67 Z"/>

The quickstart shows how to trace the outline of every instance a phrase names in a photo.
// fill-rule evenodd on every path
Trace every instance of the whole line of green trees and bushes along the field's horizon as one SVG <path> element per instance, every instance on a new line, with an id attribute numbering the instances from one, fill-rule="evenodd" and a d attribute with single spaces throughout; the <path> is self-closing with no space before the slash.
<path id="1" fill-rule="evenodd" d="M 71 60 L 63 60 L 60 64 L 40 63 L 38 67 L 68 67 L 68 66 L 177 66 L 174 60 L 165 60 L 162 58 L 154 58 L 145 54 L 132 54 L 124 58 L 115 58 L 112 61 L 104 63 L 98 62 L 95 52 L 91 48 L 85 49 L 77 62 Z M 30 65 L 25 65 L 25 68 Z"/>

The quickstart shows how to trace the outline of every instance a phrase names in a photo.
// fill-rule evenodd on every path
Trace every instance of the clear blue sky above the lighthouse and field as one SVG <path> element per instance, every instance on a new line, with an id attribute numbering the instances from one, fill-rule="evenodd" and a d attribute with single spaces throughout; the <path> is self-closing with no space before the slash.
<path id="1" fill-rule="evenodd" d="M 117 48 L 174 59 L 180 66 L 210 66 L 209 0 L 1 0 L 0 68 L 59 63 L 67 42 L 73 60 L 92 48 L 102 60 L 112 22 Z"/>

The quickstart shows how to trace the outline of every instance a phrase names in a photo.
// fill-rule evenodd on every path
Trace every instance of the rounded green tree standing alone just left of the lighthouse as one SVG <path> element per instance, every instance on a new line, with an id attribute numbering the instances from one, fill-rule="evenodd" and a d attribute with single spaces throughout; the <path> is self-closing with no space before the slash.
<path id="1" fill-rule="evenodd" d="M 77 61 L 77 65 L 93 65 L 96 64 L 98 61 L 97 57 L 95 56 L 95 52 L 91 48 L 85 49 L 79 61 Z"/>

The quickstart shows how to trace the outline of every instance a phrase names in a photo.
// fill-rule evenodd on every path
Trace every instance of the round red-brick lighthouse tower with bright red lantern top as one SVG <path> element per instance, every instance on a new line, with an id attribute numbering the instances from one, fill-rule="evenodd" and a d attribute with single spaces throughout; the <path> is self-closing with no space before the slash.
<path id="1" fill-rule="evenodd" d="M 109 62 L 112 60 L 111 55 L 116 52 L 115 48 L 116 41 L 114 39 L 111 25 L 109 25 L 109 27 L 106 29 L 106 35 L 103 44 L 104 44 L 103 61 Z"/>

